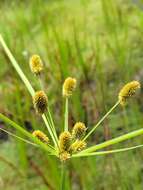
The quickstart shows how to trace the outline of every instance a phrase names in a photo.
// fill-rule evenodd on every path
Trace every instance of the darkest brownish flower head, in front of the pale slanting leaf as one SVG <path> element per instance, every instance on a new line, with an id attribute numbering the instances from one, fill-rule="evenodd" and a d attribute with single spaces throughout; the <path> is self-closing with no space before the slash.
<path id="1" fill-rule="evenodd" d="M 37 91 L 33 96 L 33 104 L 36 112 L 43 114 L 47 110 L 48 98 L 44 91 Z"/>

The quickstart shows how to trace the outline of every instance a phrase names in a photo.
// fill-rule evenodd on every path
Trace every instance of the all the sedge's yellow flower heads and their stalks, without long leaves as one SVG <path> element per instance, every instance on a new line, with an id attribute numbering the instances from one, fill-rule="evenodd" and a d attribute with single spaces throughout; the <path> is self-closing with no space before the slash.
<path id="1" fill-rule="evenodd" d="M 30 60 L 31 70 L 35 74 L 39 74 L 43 70 L 43 65 L 41 59 L 38 55 L 32 56 Z M 39 75 L 37 75 L 39 77 Z M 72 155 L 79 153 L 83 149 L 86 148 L 87 143 L 85 140 L 91 134 L 92 131 L 95 130 L 97 125 L 89 132 L 86 136 L 86 126 L 83 122 L 76 122 L 71 131 L 68 130 L 68 99 L 72 96 L 73 91 L 75 90 L 77 85 L 77 81 L 75 78 L 68 77 L 65 79 L 62 86 L 62 95 L 65 98 L 65 123 L 64 130 L 60 133 L 59 137 L 56 134 L 56 130 L 54 128 L 53 121 L 51 119 L 51 115 L 49 114 L 48 107 L 48 98 L 46 93 L 43 90 L 39 90 L 33 96 L 33 104 L 37 113 L 45 114 L 47 118 L 48 126 L 50 127 L 50 135 L 55 145 L 55 150 L 57 152 L 57 156 L 61 161 L 66 161 L 72 157 Z M 138 81 L 132 81 L 127 83 L 119 92 L 118 102 L 121 105 L 125 105 L 126 101 L 129 97 L 135 94 L 135 91 L 140 88 L 140 83 Z M 108 114 L 107 114 L 108 115 Z M 99 122 L 100 123 L 100 122 Z M 33 132 L 33 136 L 38 138 L 40 141 L 48 144 L 49 138 L 41 132 L 40 130 L 36 130 Z M 51 145 L 52 146 L 52 145 Z"/>

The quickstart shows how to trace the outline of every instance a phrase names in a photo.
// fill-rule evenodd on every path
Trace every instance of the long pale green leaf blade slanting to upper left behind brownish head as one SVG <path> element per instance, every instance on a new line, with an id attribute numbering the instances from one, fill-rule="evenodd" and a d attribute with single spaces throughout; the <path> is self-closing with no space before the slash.
<path id="1" fill-rule="evenodd" d="M 17 71 L 18 75 L 20 76 L 20 78 L 22 79 L 23 83 L 25 84 L 25 86 L 27 87 L 29 93 L 31 94 L 31 96 L 34 96 L 35 94 L 35 90 L 33 89 L 32 85 L 30 84 L 29 80 L 27 79 L 27 77 L 25 76 L 25 74 L 23 73 L 23 71 L 21 70 L 19 64 L 17 63 L 16 59 L 14 58 L 14 56 L 12 55 L 12 53 L 10 52 L 9 48 L 7 47 L 5 41 L 3 40 L 2 36 L 0 35 L 0 43 L 6 53 L 6 55 L 8 56 L 9 60 L 11 61 L 12 63 L 12 66 L 15 68 L 15 70 Z M 49 134 L 51 135 L 51 132 L 50 132 L 50 127 L 48 125 L 48 122 L 47 122 L 47 119 L 45 117 L 45 115 L 43 114 L 42 115 L 42 118 L 45 122 L 45 125 L 49 131 Z M 55 141 L 54 139 L 52 138 L 54 144 Z"/>

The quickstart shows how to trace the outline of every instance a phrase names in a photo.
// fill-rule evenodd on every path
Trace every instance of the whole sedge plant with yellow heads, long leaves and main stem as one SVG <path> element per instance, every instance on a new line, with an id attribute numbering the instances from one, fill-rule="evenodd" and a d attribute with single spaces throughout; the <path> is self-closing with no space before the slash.
<path id="1" fill-rule="evenodd" d="M 28 139 L 24 139 L 19 137 L 7 130 L 9 135 L 12 135 L 19 140 L 22 140 L 25 143 L 33 145 L 37 148 L 41 148 L 46 151 L 49 156 L 58 157 L 62 163 L 61 167 L 61 187 L 60 189 L 65 189 L 65 164 L 69 159 L 77 158 L 77 157 L 87 157 L 87 156 L 97 156 L 97 155 L 105 155 L 110 153 L 117 153 L 123 152 L 127 150 L 133 150 L 136 148 L 140 148 L 143 145 L 137 145 L 133 147 L 127 148 L 120 148 L 120 149 L 113 149 L 107 151 L 98 151 L 105 147 L 117 144 L 119 142 L 123 142 L 128 139 L 132 139 L 136 136 L 143 134 L 143 129 L 138 129 L 133 132 L 129 132 L 127 134 L 121 135 L 119 137 L 113 138 L 111 140 L 107 140 L 103 143 L 89 146 L 87 145 L 87 139 L 90 135 L 95 132 L 96 128 L 101 125 L 101 123 L 107 118 L 107 116 L 119 105 L 125 106 L 128 99 L 133 96 L 138 88 L 140 88 L 140 83 L 138 81 L 132 81 L 127 83 L 119 92 L 117 102 L 109 109 L 109 111 L 97 122 L 95 126 L 87 132 L 87 128 L 84 123 L 76 122 L 72 128 L 72 131 L 69 131 L 69 124 L 68 124 L 68 104 L 69 100 L 73 94 L 73 91 L 76 89 L 77 81 L 75 78 L 68 77 L 63 83 L 62 94 L 63 98 L 65 99 L 65 114 L 64 114 L 64 130 L 60 133 L 59 137 L 56 132 L 56 128 L 54 125 L 53 117 L 50 112 L 49 104 L 48 104 L 48 97 L 45 93 L 41 85 L 41 89 L 35 91 L 26 78 L 25 74 L 19 67 L 17 61 L 13 57 L 12 53 L 10 52 L 9 48 L 7 47 L 4 39 L 0 36 L 0 43 L 6 55 L 8 56 L 9 60 L 11 61 L 13 67 L 19 74 L 20 78 L 26 85 L 29 93 L 33 98 L 34 108 L 39 116 L 43 118 L 45 125 L 49 132 L 49 137 L 47 134 L 43 133 L 40 130 L 33 131 L 31 134 L 30 132 L 26 131 L 22 126 L 18 125 L 2 113 L 0 113 L 0 119 L 3 120 L 5 123 L 8 123 L 10 126 L 14 127 L 18 130 L 23 136 L 28 137 Z M 40 75 L 42 74 L 42 70 L 44 69 L 44 65 L 42 63 L 41 58 L 38 55 L 33 55 L 30 59 L 30 68 L 31 71 L 36 75 L 37 80 L 39 80 L 41 84 Z M 2 129 L 3 130 L 3 129 Z M 88 147 L 87 147 L 88 146 Z M 87 147 L 87 148 L 86 148 Z"/>

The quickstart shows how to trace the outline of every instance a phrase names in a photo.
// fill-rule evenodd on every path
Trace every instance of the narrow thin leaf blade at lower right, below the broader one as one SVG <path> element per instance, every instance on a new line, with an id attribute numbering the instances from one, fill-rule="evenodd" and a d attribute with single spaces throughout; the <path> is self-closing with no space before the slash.
<path id="1" fill-rule="evenodd" d="M 82 153 L 82 154 L 75 154 L 72 157 L 87 157 L 87 156 L 97 156 L 97 155 L 104 155 L 104 154 L 112 154 L 112 153 L 118 153 L 118 152 L 125 152 L 128 150 L 134 150 L 136 148 L 141 148 L 143 145 L 137 145 L 137 146 L 132 146 L 128 148 L 120 148 L 120 149 L 115 149 L 115 150 L 108 150 L 108 151 L 100 151 L 100 152 L 92 152 L 92 153 Z"/>

